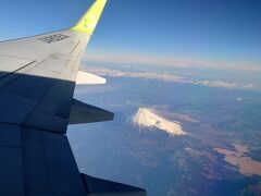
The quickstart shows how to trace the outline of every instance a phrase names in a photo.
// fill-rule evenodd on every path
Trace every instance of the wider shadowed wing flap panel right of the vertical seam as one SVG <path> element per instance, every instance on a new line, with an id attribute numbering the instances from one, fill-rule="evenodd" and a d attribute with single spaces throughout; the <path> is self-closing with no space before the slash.
<path id="1" fill-rule="evenodd" d="M 65 135 L 23 130 L 25 187 L 28 195 L 86 195 Z"/>

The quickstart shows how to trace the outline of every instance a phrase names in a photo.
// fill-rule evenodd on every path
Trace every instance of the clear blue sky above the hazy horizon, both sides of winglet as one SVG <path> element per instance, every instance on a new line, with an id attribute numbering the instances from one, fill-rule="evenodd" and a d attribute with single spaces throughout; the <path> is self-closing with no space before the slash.
<path id="1" fill-rule="evenodd" d="M 1 0 L 0 39 L 70 27 L 90 4 Z M 261 68 L 260 21 L 260 0 L 109 0 L 88 51 Z"/>

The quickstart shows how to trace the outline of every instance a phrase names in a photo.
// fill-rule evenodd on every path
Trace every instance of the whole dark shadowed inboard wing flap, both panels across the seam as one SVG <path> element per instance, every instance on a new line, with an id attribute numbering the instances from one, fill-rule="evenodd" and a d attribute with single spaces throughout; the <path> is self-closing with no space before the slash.
<path id="1" fill-rule="evenodd" d="M 1 195 L 86 195 L 65 135 L 0 123 Z"/>

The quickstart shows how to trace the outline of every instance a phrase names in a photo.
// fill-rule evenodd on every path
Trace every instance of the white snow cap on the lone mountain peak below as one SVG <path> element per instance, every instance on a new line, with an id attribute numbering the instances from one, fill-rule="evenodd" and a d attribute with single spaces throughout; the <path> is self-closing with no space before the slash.
<path id="1" fill-rule="evenodd" d="M 133 124 L 139 127 L 157 127 L 170 135 L 185 135 L 179 122 L 172 122 L 157 114 L 157 111 L 141 107 L 132 119 Z"/>

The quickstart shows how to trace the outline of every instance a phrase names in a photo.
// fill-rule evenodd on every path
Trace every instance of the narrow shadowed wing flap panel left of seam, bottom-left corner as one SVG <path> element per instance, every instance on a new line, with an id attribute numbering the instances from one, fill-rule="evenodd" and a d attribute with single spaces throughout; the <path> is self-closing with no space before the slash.
<path id="1" fill-rule="evenodd" d="M 21 128 L 0 123 L 0 193 L 24 195 Z"/>

